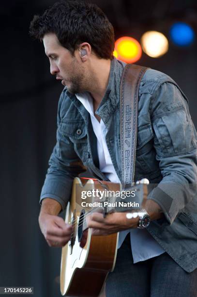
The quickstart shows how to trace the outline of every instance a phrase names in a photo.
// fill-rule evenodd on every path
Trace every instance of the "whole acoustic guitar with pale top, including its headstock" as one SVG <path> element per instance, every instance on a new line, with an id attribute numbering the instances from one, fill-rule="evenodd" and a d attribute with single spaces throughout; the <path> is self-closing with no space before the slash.
<path id="1" fill-rule="evenodd" d="M 138 208 L 139 211 L 139 207 L 132 208 L 132 205 L 137 206 L 135 201 L 139 201 L 140 208 L 143 208 L 148 193 L 147 184 L 135 183 L 129 192 L 133 193 L 133 198 L 128 202 L 115 196 L 116 193 L 123 193 L 120 183 L 86 178 L 74 179 L 65 222 L 73 224 L 75 231 L 61 252 L 63 296 L 99 296 L 107 274 L 113 271 L 115 266 L 119 233 L 106 236 L 92 235 L 91 228 L 87 228 L 87 217 L 94 211 L 102 211 L 104 216 L 125 209 L 131 212 Z"/>

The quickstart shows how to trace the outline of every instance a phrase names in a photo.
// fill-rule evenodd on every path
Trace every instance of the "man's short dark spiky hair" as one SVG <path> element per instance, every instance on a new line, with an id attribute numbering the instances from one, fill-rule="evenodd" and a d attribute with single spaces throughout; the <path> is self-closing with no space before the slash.
<path id="1" fill-rule="evenodd" d="M 55 33 L 61 46 L 72 54 L 80 43 L 88 42 L 99 58 L 113 57 L 114 29 L 96 4 L 83 0 L 55 3 L 30 23 L 32 37 L 42 40 L 46 33 Z"/>

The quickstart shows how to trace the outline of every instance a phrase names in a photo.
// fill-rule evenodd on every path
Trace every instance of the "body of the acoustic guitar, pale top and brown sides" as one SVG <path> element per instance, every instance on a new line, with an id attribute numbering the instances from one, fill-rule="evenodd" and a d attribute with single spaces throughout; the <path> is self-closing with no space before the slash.
<path id="1" fill-rule="evenodd" d="M 92 197 L 81 198 L 82 191 L 120 191 L 121 184 L 94 179 L 75 178 L 71 201 L 68 203 L 65 222 L 75 227 L 73 238 L 62 248 L 61 294 L 76 297 L 97 297 L 107 274 L 116 262 L 118 234 L 93 236 L 91 229 L 82 230 L 83 219 L 88 212 L 81 202 L 93 202 Z"/>

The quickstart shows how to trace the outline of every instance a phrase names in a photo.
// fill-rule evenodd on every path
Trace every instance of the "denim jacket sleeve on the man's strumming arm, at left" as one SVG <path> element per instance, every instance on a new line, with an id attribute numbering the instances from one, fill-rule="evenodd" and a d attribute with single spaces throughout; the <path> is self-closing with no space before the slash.
<path id="1" fill-rule="evenodd" d="M 86 171 L 86 167 L 78 158 L 73 143 L 69 137 L 61 134 L 61 104 L 64 99 L 63 92 L 58 104 L 57 118 L 57 143 L 49 159 L 49 168 L 42 188 L 40 203 L 44 198 L 57 200 L 65 209 L 71 196 L 73 180 L 80 173 Z"/>

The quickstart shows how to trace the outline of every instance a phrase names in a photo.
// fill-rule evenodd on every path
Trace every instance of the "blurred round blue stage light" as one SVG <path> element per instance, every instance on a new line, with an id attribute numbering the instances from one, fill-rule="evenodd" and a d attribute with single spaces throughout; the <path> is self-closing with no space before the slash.
<path id="1" fill-rule="evenodd" d="M 183 22 L 175 23 L 170 28 L 170 37 L 178 46 L 188 46 L 195 38 L 192 27 Z"/>

